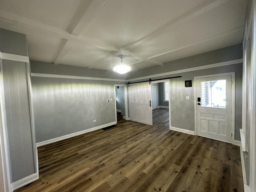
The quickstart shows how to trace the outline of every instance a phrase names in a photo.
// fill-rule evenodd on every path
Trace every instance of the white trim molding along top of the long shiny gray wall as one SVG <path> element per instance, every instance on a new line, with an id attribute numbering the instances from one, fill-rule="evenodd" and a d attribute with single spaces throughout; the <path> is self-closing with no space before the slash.
<path id="1" fill-rule="evenodd" d="M 31 73 L 32 77 L 49 77 L 49 78 L 65 78 L 65 79 L 85 79 L 85 80 L 102 80 L 102 81 L 121 81 L 126 82 L 124 79 L 110 79 L 100 77 L 84 77 L 84 76 L 72 76 L 72 75 L 57 75 L 57 74 L 45 74 L 45 73 Z"/>

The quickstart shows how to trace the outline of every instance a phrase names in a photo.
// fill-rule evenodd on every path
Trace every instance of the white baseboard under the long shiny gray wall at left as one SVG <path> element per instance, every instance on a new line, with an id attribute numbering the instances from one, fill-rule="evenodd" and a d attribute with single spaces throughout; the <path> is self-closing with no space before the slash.
<path id="1" fill-rule="evenodd" d="M 94 131 L 94 130 L 102 129 L 102 128 L 114 125 L 116 123 L 117 122 L 115 121 L 115 122 L 111 122 L 111 123 L 108 123 L 108 124 L 100 125 L 98 127 L 93 127 L 93 128 L 90 128 L 90 129 L 78 131 L 78 132 L 71 133 L 71 134 L 68 134 L 68 135 L 64 135 L 64 136 L 56 137 L 56 138 L 53 138 L 53 139 L 49 139 L 49 140 L 46 140 L 46 141 L 41 141 L 41 142 L 36 143 L 36 146 L 40 147 L 40 146 L 43 146 L 43 145 L 47 145 L 47 144 L 50 144 L 50 143 L 54 143 L 54 142 L 57 142 L 57 141 L 68 139 L 68 138 L 78 136 L 78 135 L 81 135 L 81 134 L 84 134 L 84 133 L 88 133 L 88 132 L 91 132 L 91 131 Z"/>

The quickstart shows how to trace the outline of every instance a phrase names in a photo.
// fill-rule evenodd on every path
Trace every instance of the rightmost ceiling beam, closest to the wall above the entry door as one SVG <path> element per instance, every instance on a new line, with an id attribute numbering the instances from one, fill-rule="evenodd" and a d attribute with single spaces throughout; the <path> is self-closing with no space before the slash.
<path id="1" fill-rule="evenodd" d="M 207 37 L 207 38 L 204 38 L 204 39 L 201 39 L 201 40 L 198 40 L 196 42 L 193 42 L 193 43 L 190 43 L 190 44 L 186 44 L 185 46 L 181 46 L 179 48 L 175 48 L 173 50 L 170 50 L 170 51 L 166 51 L 166 52 L 163 52 L 163 53 L 160 53 L 160 54 L 157 54 L 157 55 L 154 55 L 154 56 L 151 56 L 149 57 L 148 59 L 152 59 L 152 58 L 156 58 L 156 57 L 159 57 L 159 56 L 162 56 L 162 55 L 165 55 L 165 54 L 169 54 L 169 53 L 172 53 L 172 52 L 175 52 L 175 51 L 178 51 L 178 50 L 182 50 L 184 48 L 188 48 L 188 47 L 191 47 L 191 46 L 194 46 L 194 45 L 198 45 L 198 44 L 201 44 L 201 43 L 204 43 L 204 42 L 207 42 L 207 41 L 210 41 L 210 40 L 214 40 L 214 39 L 219 39 L 219 38 L 222 38 L 222 37 L 226 37 L 226 36 L 229 36 L 231 34 L 234 34 L 236 32 L 239 32 L 239 31 L 244 31 L 244 25 L 243 26 L 240 26 L 240 27 L 236 27 L 236 28 L 233 28 L 231 30 L 228 30 L 228 31 L 225 31 L 225 32 L 221 32 L 221 33 L 218 33 L 218 34 L 215 34 L 213 36 L 210 36 L 210 37 Z"/>

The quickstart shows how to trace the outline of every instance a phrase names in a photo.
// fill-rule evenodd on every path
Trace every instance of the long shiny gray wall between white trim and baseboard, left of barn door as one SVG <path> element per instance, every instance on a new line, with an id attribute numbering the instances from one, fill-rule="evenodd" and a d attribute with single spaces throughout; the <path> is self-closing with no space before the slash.
<path id="1" fill-rule="evenodd" d="M 36 142 L 115 122 L 114 88 L 108 81 L 32 77 Z"/>

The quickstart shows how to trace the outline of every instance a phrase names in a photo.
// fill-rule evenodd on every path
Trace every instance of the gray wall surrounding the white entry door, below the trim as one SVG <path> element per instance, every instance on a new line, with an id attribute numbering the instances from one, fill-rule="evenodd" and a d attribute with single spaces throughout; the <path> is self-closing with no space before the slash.
<path id="1" fill-rule="evenodd" d="M 171 92 L 171 126 L 194 131 L 194 77 L 210 74 L 236 72 L 236 95 L 235 95 L 235 140 L 240 140 L 242 127 L 242 64 L 216 67 L 177 74 L 181 78 L 170 80 Z M 192 87 L 185 87 L 184 81 L 192 80 Z M 186 100 L 186 96 L 190 99 Z"/>

